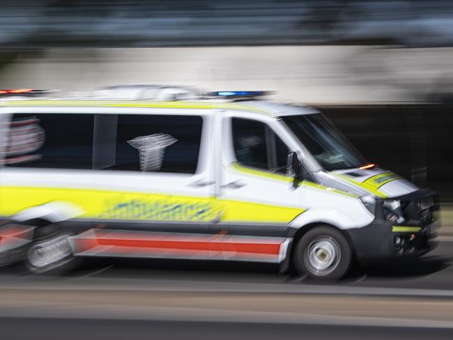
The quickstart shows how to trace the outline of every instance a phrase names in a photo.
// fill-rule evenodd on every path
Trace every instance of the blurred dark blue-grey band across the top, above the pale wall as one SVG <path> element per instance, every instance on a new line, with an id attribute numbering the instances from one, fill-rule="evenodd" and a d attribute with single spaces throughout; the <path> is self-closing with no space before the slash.
<path id="1" fill-rule="evenodd" d="M 451 46 L 452 13 L 442 0 L 15 0 L 0 46 Z"/>

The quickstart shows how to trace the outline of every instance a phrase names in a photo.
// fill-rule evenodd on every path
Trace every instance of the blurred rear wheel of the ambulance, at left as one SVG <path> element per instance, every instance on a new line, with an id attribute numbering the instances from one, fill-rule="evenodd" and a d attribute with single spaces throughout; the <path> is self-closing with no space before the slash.
<path id="1" fill-rule="evenodd" d="M 26 270 L 35 274 L 49 275 L 63 275 L 74 270 L 79 265 L 79 261 L 72 254 L 72 247 L 68 240 L 72 235 L 74 235 L 72 231 L 61 229 L 58 224 L 37 228 L 33 235 L 33 242 L 24 248 L 23 258 Z M 49 252 L 54 252 L 53 258 Z"/>

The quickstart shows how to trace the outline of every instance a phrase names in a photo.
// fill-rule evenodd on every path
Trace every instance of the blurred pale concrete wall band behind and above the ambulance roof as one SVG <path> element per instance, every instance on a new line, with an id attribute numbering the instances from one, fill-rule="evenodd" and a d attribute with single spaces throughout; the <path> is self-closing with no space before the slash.
<path id="1" fill-rule="evenodd" d="M 413 101 L 451 91 L 452 56 L 451 47 L 55 48 L 19 53 L 1 69 L 0 88 L 179 84 L 275 90 L 291 102 Z"/>

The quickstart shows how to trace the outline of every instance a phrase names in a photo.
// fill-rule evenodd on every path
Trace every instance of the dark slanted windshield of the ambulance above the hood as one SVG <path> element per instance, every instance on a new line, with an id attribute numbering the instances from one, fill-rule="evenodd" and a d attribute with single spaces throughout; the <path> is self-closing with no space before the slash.
<path id="1" fill-rule="evenodd" d="M 367 160 L 323 114 L 282 116 L 282 121 L 328 170 L 360 167 Z"/>

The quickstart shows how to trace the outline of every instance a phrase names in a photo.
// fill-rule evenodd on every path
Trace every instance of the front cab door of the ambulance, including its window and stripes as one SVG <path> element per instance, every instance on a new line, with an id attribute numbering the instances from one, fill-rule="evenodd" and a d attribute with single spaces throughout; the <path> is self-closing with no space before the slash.
<path id="1" fill-rule="evenodd" d="M 280 262 L 301 188 L 286 176 L 291 148 L 270 122 L 222 117 L 222 165 L 217 201 L 224 258 Z"/>

